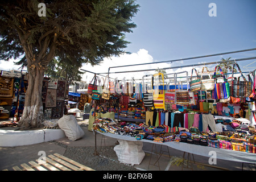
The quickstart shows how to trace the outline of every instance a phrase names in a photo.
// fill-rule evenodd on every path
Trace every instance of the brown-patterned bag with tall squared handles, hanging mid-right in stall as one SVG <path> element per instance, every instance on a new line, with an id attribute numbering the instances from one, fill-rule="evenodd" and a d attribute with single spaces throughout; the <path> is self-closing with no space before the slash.
<path id="1" fill-rule="evenodd" d="M 177 74 L 179 73 L 186 73 L 187 75 L 187 90 L 183 90 L 183 86 L 181 84 L 181 89 L 180 90 L 180 85 L 178 85 L 178 90 L 176 90 L 176 85 L 177 85 Z M 176 105 L 189 105 L 189 92 L 188 92 L 188 72 L 179 72 L 174 74 L 174 80 L 175 80 L 175 93 L 176 93 Z"/>

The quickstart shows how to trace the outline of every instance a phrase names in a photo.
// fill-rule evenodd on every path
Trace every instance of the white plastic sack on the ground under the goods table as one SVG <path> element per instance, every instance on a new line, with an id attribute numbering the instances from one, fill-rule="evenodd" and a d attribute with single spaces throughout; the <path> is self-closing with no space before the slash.
<path id="1" fill-rule="evenodd" d="M 125 164 L 140 164 L 145 156 L 142 142 L 118 139 L 119 144 L 114 147 L 118 160 Z"/>

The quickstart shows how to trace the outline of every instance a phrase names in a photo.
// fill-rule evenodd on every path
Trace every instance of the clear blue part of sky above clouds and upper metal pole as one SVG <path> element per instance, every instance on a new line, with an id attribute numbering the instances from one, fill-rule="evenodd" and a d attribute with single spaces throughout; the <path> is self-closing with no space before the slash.
<path id="1" fill-rule="evenodd" d="M 208 15 L 212 2 L 217 6 L 216 17 Z M 141 5 L 133 18 L 137 28 L 126 36 L 131 42 L 127 51 L 144 48 L 154 60 L 164 61 L 256 47 L 255 0 L 138 0 L 137 3 Z"/>

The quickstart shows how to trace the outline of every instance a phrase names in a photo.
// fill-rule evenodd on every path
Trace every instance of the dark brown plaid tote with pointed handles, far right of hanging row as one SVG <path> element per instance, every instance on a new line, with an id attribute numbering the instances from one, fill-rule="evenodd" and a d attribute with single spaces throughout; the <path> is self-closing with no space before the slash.
<path id="1" fill-rule="evenodd" d="M 243 78 L 243 81 L 240 81 L 240 77 L 234 78 L 234 67 L 237 66 L 238 71 L 241 73 L 241 76 Z M 243 76 L 241 69 L 237 63 L 234 63 L 233 65 L 233 71 L 232 71 L 232 81 L 230 84 L 230 95 L 232 97 L 236 98 L 242 98 L 242 97 L 249 97 L 251 92 L 251 81 L 247 81 L 245 76 Z"/>

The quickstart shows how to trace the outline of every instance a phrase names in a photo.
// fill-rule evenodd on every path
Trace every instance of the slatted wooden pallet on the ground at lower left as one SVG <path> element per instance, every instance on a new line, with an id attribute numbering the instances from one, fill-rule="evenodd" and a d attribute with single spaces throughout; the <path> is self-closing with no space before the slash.
<path id="1" fill-rule="evenodd" d="M 30 164 L 30 165 L 28 165 Z M 94 171 L 94 169 L 75 162 L 63 155 L 53 154 L 46 157 L 46 162 L 38 163 L 30 161 L 28 164 L 20 164 L 20 167 L 14 166 L 14 171 Z M 5 169 L 4 171 L 8 171 Z"/>

